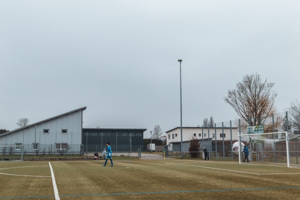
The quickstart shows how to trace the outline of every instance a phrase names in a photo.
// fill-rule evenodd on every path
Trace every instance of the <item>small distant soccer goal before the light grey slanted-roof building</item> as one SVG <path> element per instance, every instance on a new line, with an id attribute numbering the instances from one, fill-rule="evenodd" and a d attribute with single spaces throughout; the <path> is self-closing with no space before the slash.
<path id="1" fill-rule="evenodd" d="M 0 160 L 23 160 L 22 145 L 0 146 Z"/>

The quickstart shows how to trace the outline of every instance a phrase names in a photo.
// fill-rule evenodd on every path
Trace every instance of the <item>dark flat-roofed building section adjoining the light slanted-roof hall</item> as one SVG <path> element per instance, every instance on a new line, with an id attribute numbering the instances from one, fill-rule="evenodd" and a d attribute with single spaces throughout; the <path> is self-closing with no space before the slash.
<path id="1" fill-rule="evenodd" d="M 84 152 L 102 152 L 106 142 L 112 152 L 133 152 L 143 149 L 143 132 L 146 129 L 128 128 L 82 128 Z M 100 153 L 99 153 L 100 154 Z"/>

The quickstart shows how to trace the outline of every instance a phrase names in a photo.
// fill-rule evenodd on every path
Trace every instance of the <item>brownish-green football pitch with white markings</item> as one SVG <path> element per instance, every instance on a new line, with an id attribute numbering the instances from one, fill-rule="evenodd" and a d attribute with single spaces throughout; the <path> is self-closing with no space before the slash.
<path id="1" fill-rule="evenodd" d="M 1 161 L 0 199 L 300 199 L 300 168 L 191 159 Z"/>

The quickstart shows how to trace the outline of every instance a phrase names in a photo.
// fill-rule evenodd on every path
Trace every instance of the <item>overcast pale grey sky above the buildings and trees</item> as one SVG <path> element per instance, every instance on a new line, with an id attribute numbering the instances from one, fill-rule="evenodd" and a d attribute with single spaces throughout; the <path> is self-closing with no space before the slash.
<path id="1" fill-rule="evenodd" d="M 0 128 L 87 106 L 83 127 L 237 118 L 223 97 L 245 74 L 300 100 L 299 0 L 1 0 Z"/>

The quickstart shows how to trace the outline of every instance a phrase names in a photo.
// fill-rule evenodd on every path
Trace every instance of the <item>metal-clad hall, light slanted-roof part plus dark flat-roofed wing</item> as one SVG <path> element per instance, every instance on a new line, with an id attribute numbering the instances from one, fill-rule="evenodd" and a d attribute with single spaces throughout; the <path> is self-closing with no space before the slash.
<path id="1" fill-rule="evenodd" d="M 24 153 L 28 154 L 100 152 L 106 142 L 114 152 L 131 152 L 143 147 L 146 129 L 82 128 L 85 109 L 86 106 L 2 133 L 0 146 L 14 147 L 2 150 L 0 147 L 0 150 L 17 154 L 23 146 Z"/>

